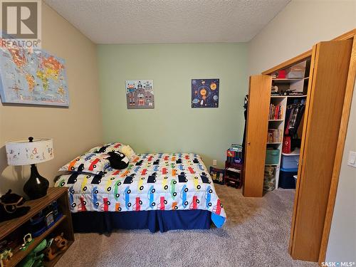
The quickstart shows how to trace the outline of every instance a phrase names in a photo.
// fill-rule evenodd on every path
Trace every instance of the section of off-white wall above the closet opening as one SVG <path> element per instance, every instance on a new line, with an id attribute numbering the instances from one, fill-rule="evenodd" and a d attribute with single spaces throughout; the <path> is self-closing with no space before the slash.
<path id="1" fill-rule="evenodd" d="M 319 41 L 356 28 L 356 1 L 292 0 L 248 46 L 248 73 L 259 74 Z"/>

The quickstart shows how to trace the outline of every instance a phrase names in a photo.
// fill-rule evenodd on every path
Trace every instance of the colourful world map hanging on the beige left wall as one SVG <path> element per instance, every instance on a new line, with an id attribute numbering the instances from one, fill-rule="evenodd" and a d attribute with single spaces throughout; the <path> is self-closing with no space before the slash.
<path id="1" fill-rule="evenodd" d="M 2 103 L 69 105 L 65 61 L 43 50 L 0 48 Z"/>

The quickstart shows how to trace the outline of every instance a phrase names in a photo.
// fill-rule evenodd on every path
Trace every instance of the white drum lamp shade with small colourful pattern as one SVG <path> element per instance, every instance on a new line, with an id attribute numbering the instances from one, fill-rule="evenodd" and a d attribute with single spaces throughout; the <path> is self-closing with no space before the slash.
<path id="1" fill-rule="evenodd" d="M 5 146 L 9 165 L 37 164 L 54 158 L 51 138 L 35 138 L 33 142 L 14 140 L 6 142 Z"/>

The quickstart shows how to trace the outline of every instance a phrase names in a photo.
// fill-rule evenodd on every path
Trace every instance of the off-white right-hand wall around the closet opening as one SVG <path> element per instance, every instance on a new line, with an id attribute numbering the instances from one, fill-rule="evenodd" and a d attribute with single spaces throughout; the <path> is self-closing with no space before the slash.
<path id="1" fill-rule="evenodd" d="M 248 46 L 248 73 L 258 74 L 356 28 L 356 1 L 290 1 Z M 356 90 L 356 89 L 355 89 Z M 326 261 L 356 261 L 356 93 L 347 129 Z"/>

